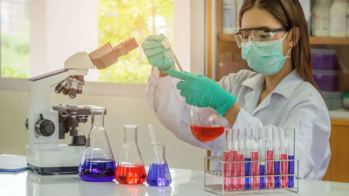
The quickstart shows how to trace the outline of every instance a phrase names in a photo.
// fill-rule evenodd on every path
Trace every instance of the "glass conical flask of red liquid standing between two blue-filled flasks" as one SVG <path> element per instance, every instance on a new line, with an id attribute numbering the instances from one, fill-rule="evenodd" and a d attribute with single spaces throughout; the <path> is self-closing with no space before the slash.
<path id="1" fill-rule="evenodd" d="M 124 184 L 144 183 L 147 172 L 143 164 L 137 139 L 138 126 L 124 125 L 124 145 L 115 172 L 115 179 Z"/>

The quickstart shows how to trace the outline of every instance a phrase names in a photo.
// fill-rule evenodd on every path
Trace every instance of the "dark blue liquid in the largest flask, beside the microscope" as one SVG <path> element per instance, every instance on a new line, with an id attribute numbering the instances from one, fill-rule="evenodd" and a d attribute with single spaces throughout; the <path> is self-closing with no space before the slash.
<path id="1" fill-rule="evenodd" d="M 84 181 L 112 181 L 115 174 L 115 162 L 111 159 L 92 158 L 85 160 L 79 167 L 79 176 Z"/>

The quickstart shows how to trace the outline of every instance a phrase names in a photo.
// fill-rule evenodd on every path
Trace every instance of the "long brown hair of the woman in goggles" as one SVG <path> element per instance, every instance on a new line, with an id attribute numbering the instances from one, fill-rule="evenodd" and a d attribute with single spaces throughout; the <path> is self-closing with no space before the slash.
<path id="1" fill-rule="evenodd" d="M 295 27 L 299 29 L 299 40 L 296 43 L 296 37 L 292 36 L 292 67 L 302 79 L 313 84 L 318 89 L 314 80 L 311 69 L 311 53 L 309 43 L 308 27 L 304 17 L 303 9 L 298 0 L 244 0 L 239 13 L 239 26 L 242 25 L 242 15 L 254 6 L 267 10 L 276 20 L 278 20 L 286 31 L 292 31 L 295 35 Z M 320 90 L 318 89 L 320 92 Z M 322 95 L 322 93 L 320 92 Z"/>

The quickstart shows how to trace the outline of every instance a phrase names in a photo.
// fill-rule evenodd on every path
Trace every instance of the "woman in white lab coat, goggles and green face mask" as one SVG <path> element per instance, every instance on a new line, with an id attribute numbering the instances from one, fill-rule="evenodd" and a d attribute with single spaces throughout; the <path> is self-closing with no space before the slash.
<path id="1" fill-rule="evenodd" d="M 244 0 L 239 27 L 237 45 L 242 48 L 242 59 L 255 72 L 241 70 L 218 83 L 203 75 L 172 70 L 161 46 L 165 37 L 146 38 L 144 53 L 157 67 L 148 80 L 149 105 L 174 135 L 211 150 L 212 156 L 223 156 L 224 136 L 205 144 L 195 140 L 190 128 L 191 105 L 213 107 L 233 128 L 294 127 L 299 177 L 322 179 L 331 155 L 331 125 L 313 82 L 308 28 L 299 1 Z"/>

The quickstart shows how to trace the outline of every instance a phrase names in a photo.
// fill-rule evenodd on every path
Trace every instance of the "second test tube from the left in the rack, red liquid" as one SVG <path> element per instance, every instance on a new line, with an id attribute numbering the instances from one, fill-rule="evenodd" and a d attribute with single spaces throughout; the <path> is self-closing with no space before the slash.
<path id="1" fill-rule="evenodd" d="M 232 130 L 232 151 L 230 151 L 230 157 L 232 161 L 237 161 L 237 149 L 238 149 L 238 135 L 239 130 Z M 237 163 L 230 165 L 230 176 L 237 176 Z M 230 190 L 237 190 L 237 178 L 230 179 Z"/>

